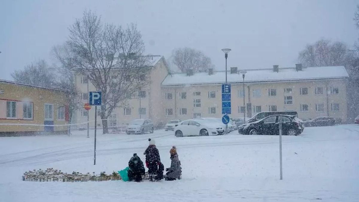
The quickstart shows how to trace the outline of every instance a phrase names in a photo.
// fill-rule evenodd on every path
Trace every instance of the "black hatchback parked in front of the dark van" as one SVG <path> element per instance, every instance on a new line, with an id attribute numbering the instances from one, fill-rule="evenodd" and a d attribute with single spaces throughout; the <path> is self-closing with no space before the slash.
<path id="1" fill-rule="evenodd" d="M 292 115 L 271 115 L 253 123 L 243 124 L 238 133 L 244 135 L 279 135 L 279 122 L 282 123 L 282 134 L 296 136 L 303 132 L 303 121 Z"/>

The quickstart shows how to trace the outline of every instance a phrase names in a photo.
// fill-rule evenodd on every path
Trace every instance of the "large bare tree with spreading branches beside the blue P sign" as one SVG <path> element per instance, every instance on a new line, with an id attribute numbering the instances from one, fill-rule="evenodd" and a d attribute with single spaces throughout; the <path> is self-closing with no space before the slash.
<path id="1" fill-rule="evenodd" d="M 69 54 L 56 54 L 63 66 L 82 75 L 102 92 L 103 133 L 107 118 L 117 107 L 128 105 L 128 96 L 148 87 L 150 64 L 144 42 L 135 24 L 125 29 L 102 24 L 91 11 L 76 19 L 66 42 Z M 56 51 L 55 51 L 56 52 Z"/>

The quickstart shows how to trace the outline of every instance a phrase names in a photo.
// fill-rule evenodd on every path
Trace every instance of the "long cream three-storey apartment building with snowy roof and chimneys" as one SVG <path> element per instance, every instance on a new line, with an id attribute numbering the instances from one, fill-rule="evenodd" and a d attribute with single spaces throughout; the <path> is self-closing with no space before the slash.
<path id="1" fill-rule="evenodd" d="M 246 71 L 244 81 L 240 72 Z M 261 111 L 297 111 L 303 120 L 318 116 L 347 118 L 344 66 L 241 70 L 228 72 L 232 118 Z M 222 116 L 225 71 L 169 74 L 162 82 L 164 121 Z M 243 91 L 244 84 L 244 91 Z M 244 105 L 243 105 L 244 98 Z"/>

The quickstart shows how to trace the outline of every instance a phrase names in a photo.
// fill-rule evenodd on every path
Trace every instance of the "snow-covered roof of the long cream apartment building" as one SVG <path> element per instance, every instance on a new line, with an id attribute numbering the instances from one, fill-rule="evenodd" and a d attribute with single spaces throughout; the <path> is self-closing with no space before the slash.
<path id="1" fill-rule="evenodd" d="M 303 67 L 301 71 L 296 71 L 295 68 L 279 68 L 279 72 L 274 72 L 273 69 L 238 70 L 238 72 L 241 71 L 247 71 L 244 83 L 337 79 L 349 77 L 344 66 Z M 162 86 L 219 84 L 224 82 L 225 71 L 215 71 L 211 75 L 209 75 L 208 72 L 197 72 L 191 76 L 187 76 L 186 73 L 173 73 L 167 75 L 162 82 Z M 230 71 L 227 71 L 227 82 L 242 83 L 242 74 L 230 74 Z"/>

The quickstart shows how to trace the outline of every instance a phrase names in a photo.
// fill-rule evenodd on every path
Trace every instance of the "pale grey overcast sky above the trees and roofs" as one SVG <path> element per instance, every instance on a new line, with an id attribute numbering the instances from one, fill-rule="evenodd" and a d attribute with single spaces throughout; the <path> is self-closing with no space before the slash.
<path id="1" fill-rule="evenodd" d="M 192 47 L 224 69 L 294 66 L 298 52 L 320 38 L 352 47 L 358 0 L 337 1 L 89 1 L 13 0 L 0 7 L 0 79 L 38 59 L 53 63 L 51 48 L 67 40 L 68 27 L 85 9 L 103 22 L 137 23 L 149 54 L 169 59 L 177 47 Z"/>

